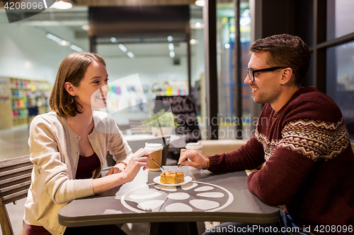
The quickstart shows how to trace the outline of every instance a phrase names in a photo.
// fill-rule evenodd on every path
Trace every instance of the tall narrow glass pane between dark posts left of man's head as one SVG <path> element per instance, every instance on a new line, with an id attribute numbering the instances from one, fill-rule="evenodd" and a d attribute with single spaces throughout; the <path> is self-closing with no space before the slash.
<path id="1" fill-rule="evenodd" d="M 251 42 L 251 15 L 249 1 L 240 4 L 240 40 L 241 40 L 241 94 L 236 93 L 236 52 L 235 52 L 235 6 L 234 2 L 217 1 L 217 73 L 219 94 L 219 139 L 251 138 L 247 131 L 251 123 L 251 89 L 244 84 L 246 68 L 249 63 Z M 236 100 L 242 99 L 242 116 L 235 116 Z M 242 123 L 244 130 L 236 131 L 236 125 Z"/>

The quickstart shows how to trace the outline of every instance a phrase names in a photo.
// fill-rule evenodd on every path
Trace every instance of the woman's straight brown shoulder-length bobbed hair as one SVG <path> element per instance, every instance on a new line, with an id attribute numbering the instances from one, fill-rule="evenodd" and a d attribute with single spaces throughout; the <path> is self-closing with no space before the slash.
<path id="1" fill-rule="evenodd" d="M 76 116 L 76 114 L 82 113 L 80 111 L 81 104 L 67 92 L 64 84 L 69 82 L 75 87 L 79 87 L 81 79 L 84 78 L 86 69 L 92 61 L 101 62 L 105 66 L 105 61 L 101 56 L 89 52 L 69 54 L 60 64 L 49 100 L 50 108 L 59 116 Z"/>

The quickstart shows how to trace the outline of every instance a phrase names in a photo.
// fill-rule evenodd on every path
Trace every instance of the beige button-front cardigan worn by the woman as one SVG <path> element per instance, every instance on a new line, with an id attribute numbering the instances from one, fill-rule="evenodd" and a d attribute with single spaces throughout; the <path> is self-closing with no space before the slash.
<path id="1" fill-rule="evenodd" d="M 93 172 L 93 178 L 97 178 L 108 150 L 115 161 L 128 160 L 132 150 L 111 116 L 93 112 L 93 120 L 95 127 L 88 137 L 101 161 L 101 166 Z M 45 227 L 51 234 L 64 234 L 66 227 L 58 222 L 59 210 L 76 198 L 93 195 L 92 179 L 75 179 L 79 140 L 67 119 L 55 112 L 33 119 L 28 143 L 34 167 L 25 203 L 26 224 Z"/>

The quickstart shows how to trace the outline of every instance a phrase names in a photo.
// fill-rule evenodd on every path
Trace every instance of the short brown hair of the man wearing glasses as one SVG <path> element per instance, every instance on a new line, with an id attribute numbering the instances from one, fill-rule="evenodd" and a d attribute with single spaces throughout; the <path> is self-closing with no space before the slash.
<path id="1" fill-rule="evenodd" d="M 282 34 L 256 40 L 251 52 L 269 52 L 267 63 L 270 66 L 285 66 L 295 74 L 295 83 L 300 85 L 309 70 L 309 47 L 297 36 Z"/>

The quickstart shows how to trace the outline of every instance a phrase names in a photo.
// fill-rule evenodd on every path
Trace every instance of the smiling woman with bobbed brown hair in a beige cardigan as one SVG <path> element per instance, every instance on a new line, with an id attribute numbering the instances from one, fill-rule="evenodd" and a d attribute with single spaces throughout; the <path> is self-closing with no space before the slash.
<path id="1" fill-rule="evenodd" d="M 30 125 L 34 168 L 25 234 L 125 234 L 115 225 L 67 228 L 58 222 L 59 210 L 70 201 L 132 181 L 141 167 L 149 167 L 150 152 L 132 155 L 114 119 L 94 111 L 106 107 L 107 83 L 105 61 L 97 54 L 69 54 L 60 64 L 50 95 L 54 112 L 36 116 Z M 118 163 L 98 178 L 108 151 Z"/>

